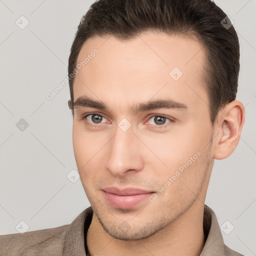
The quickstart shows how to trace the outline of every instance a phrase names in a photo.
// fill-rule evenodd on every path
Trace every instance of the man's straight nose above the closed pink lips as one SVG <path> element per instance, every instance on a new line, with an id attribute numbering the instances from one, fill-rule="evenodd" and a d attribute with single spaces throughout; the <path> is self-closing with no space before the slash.
<path id="1" fill-rule="evenodd" d="M 135 174 L 143 166 L 141 141 L 133 134 L 132 126 L 123 131 L 118 125 L 107 144 L 105 168 L 115 176 Z"/>

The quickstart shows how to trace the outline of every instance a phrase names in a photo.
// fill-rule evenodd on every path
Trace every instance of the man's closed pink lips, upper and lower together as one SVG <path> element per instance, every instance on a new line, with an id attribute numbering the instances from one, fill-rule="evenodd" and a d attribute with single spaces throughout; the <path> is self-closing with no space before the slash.
<path id="1" fill-rule="evenodd" d="M 117 187 L 105 187 L 102 191 L 108 203 L 113 207 L 122 209 L 133 208 L 154 193 L 153 191 L 133 187 L 125 187 L 122 189 Z"/>

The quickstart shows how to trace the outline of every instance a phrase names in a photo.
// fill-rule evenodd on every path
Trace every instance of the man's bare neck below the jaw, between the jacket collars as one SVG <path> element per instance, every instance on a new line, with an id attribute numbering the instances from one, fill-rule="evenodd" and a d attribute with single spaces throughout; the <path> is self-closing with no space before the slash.
<path id="1" fill-rule="evenodd" d="M 176 220 L 141 240 L 126 241 L 111 237 L 93 215 L 86 240 L 89 256 L 199 256 L 204 246 L 203 203 L 197 198 Z"/>

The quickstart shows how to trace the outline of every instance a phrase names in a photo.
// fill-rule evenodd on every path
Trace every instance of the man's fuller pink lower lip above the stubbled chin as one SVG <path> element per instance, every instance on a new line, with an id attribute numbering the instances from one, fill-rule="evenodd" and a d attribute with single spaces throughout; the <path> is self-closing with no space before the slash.
<path id="1" fill-rule="evenodd" d="M 138 203 L 142 202 L 145 199 L 153 194 L 152 193 L 143 193 L 143 194 L 132 194 L 132 195 L 117 195 L 112 194 L 106 191 L 103 191 L 105 199 L 116 208 L 121 209 L 130 209 L 136 206 Z"/>

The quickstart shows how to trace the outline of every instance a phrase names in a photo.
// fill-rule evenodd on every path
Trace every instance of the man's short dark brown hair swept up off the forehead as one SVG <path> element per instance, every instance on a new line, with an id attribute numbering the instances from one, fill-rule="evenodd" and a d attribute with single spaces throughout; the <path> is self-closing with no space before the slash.
<path id="1" fill-rule="evenodd" d="M 233 101 L 237 92 L 239 41 L 234 27 L 224 25 L 230 22 L 211 0 L 96 0 L 78 25 L 68 59 L 68 76 L 76 67 L 83 43 L 94 35 L 129 40 L 149 30 L 192 34 L 206 52 L 203 78 L 213 124 L 219 109 Z M 73 81 L 74 77 L 69 79 L 68 103 L 74 116 Z"/>

